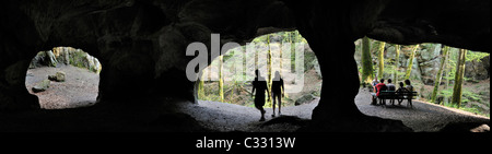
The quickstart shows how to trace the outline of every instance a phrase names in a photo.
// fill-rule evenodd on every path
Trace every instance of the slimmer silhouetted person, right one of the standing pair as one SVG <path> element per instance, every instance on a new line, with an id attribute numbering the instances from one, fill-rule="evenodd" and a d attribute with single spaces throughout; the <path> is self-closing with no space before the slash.
<path id="1" fill-rule="evenodd" d="M 276 71 L 276 78 L 271 84 L 271 96 L 273 97 L 273 104 L 271 105 L 273 108 L 273 114 L 271 117 L 276 117 L 276 100 L 279 102 L 279 116 L 282 115 L 282 97 L 284 91 L 283 79 L 280 76 L 280 72 Z"/>

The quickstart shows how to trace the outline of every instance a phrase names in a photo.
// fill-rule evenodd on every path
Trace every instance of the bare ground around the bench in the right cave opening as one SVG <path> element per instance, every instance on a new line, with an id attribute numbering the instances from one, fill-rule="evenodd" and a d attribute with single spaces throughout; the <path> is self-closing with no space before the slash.
<path id="1" fill-rule="evenodd" d="M 490 123 L 490 118 L 472 112 L 444 107 L 432 103 L 413 99 L 413 107 L 407 106 L 407 100 L 401 105 L 373 106 L 371 94 L 366 90 L 359 91 L 355 104 L 359 109 L 368 116 L 376 116 L 386 119 L 401 120 L 403 125 L 414 131 L 440 131 L 448 123 L 477 122 Z M 398 103 L 396 103 L 398 104 Z"/>

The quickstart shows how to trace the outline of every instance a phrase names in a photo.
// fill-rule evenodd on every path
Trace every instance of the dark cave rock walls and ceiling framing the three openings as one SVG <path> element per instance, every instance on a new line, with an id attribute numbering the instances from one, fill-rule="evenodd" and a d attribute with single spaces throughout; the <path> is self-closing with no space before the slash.
<path id="1" fill-rule="evenodd" d="M 144 106 L 139 99 L 151 96 L 195 100 L 195 83 L 185 73 L 194 58 L 185 55 L 190 43 L 206 44 L 210 56 L 211 33 L 220 34 L 221 45 L 245 44 L 261 34 L 296 28 L 315 51 L 324 81 L 343 81 L 323 84 L 320 103 L 313 111 L 314 128 L 308 130 L 407 130 L 400 129 L 405 127 L 401 122 L 367 118 L 354 105 L 360 83 L 353 60 L 354 40 L 368 36 L 395 44 L 431 42 L 490 51 L 489 0 L 1 3 L 0 72 L 4 73 L 0 73 L 0 110 L 36 108 L 36 98 L 22 83 L 28 68 L 26 61 L 38 50 L 63 45 L 87 51 L 105 67 L 101 72 L 99 104 Z M 337 91 L 333 86 L 348 90 Z M 367 120 L 377 122 L 364 122 Z"/>

